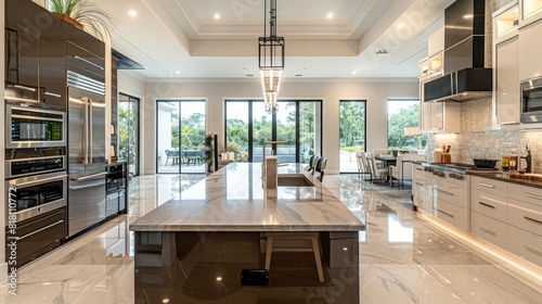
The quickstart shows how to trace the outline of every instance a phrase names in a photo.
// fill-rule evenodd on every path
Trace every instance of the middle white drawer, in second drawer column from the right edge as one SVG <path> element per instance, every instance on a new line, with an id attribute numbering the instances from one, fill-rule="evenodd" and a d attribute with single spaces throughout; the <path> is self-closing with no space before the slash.
<path id="1" fill-rule="evenodd" d="M 470 189 L 470 208 L 501 221 L 507 220 L 507 202 L 503 197 L 473 188 Z"/>

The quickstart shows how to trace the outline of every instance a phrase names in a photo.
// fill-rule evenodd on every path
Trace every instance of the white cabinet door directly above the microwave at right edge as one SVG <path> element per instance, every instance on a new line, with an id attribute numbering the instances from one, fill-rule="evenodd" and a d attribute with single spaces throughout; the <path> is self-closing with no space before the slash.
<path id="1" fill-rule="evenodd" d="M 519 28 L 519 79 L 542 76 L 542 20 Z"/>

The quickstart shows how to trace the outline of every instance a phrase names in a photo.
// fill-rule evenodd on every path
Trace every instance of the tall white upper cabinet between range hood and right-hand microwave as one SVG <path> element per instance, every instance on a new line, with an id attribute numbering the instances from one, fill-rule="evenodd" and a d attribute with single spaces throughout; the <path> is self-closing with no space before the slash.
<path id="1" fill-rule="evenodd" d="M 519 124 L 518 20 L 517 2 L 493 14 L 493 97 L 500 125 Z"/>

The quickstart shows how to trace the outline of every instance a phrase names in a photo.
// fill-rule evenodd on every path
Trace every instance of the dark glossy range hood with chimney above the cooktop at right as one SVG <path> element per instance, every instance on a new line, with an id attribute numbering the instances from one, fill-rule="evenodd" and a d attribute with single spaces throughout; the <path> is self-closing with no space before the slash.
<path id="1" fill-rule="evenodd" d="M 492 71 L 485 68 L 485 0 L 457 0 L 444 11 L 444 76 L 424 84 L 424 101 L 490 97 Z"/>

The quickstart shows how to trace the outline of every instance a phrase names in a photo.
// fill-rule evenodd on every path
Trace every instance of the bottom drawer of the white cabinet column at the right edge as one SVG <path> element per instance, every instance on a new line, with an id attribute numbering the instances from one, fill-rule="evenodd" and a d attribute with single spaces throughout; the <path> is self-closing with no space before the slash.
<path id="1" fill-rule="evenodd" d="M 508 226 L 508 251 L 542 266 L 542 237 Z"/>

